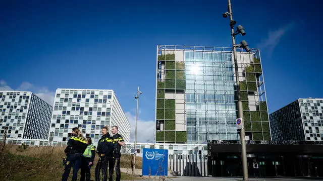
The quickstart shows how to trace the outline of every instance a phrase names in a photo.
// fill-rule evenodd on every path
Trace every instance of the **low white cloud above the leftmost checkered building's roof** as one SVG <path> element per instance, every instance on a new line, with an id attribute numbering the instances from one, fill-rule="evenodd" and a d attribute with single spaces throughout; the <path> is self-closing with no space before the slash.
<path id="1" fill-rule="evenodd" d="M 49 91 L 47 87 L 39 87 L 29 82 L 22 82 L 18 88 L 13 89 L 7 85 L 5 80 L 0 80 L 0 91 L 31 91 L 51 106 L 53 106 L 55 99 L 55 92 Z"/>

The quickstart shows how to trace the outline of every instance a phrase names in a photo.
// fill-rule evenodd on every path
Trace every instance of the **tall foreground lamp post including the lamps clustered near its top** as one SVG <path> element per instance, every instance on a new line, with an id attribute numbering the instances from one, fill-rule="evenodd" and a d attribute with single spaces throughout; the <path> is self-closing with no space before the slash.
<path id="1" fill-rule="evenodd" d="M 250 52 L 249 45 L 246 41 L 242 40 L 241 44 L 236 44 L 235 36 L 241 34 L 242 36 L 246 35 L 244 28 L 239 25 L 237 26 L 237 31 L 234 31 L 234 25 L 237 23 L 233 20 L 232 17 L 232 9 L 231 9 L 231 0 L 228 0 L 228 12 L 222 15 L 224 18 L 230 17 L 230 27 L 231 27 L 231 37 L 232 37 L 232 45 L 233 45 L 233 58 L 235 64 L 235 74 L 237 80 L 237 93 L 238 93 L 238 116 L 241 120 L 243 120 L 243 110 L 242 110 L 242 102 L 241 102 L 241 94 L 240 94 L 240 81 L 239 81 L 239 70 L 238 70 L 238 61 L 237 61 L 237 47 L 242 47 L 246 52 Z M 247 167 L 247 151 L 246 151 L 246 141 L 245 141 L 245 132 L 242 121 L 242 128 L 240 129 L 240 143 L 241 143 L 241 157 L 242 157 L 242 167 L 243 167 L 243 180 L 248 180 L 248 167 Z"/>

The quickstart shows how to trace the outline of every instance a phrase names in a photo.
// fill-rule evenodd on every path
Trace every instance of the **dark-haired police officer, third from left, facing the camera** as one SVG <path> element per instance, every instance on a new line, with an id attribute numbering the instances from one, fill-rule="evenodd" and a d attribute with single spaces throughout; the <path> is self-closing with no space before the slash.
<path id="1" fill-rule="evenodd" d="M 95 166 L 95 181 L 100 180 L 100 172 L 102 173 L 103 181 L 107 180 L 107 163 L 112 157 L 114 141 L 113 137 L 108 133 L 109 126 L 102 128 L 102 137 L 97 143 L 97 154 L 100 157 Z"/>

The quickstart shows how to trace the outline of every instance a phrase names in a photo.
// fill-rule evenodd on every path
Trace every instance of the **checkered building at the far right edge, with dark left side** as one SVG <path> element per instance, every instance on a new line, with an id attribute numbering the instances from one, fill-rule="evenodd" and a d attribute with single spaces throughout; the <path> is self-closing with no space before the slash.
<path id="1" fill-rule="evenodd" d="M 273 140 L 323 141 L 323 99 L 299 99 L 270 114 Z"/>

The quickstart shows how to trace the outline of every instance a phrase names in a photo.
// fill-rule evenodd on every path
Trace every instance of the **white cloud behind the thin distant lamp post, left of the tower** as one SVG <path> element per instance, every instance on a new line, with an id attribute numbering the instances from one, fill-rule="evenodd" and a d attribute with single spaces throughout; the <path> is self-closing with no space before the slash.
<path id="1" fill-rule="evenodd" d="M 139 114 L 140 115 L 140 114 Z M 130 142 L 135 141 L 135 127 L 136 127 L 136 116 L 132 115 L 130 112 L 126 112 L 126 116 L 130 122 L 131 132 L 130 132 Z M 154 121 L 143 121 L 140 120 L 138 116 L 137 123 L 137 143 L 138 142 L 154 142 L 154 131 L 155 131 Z"/>

